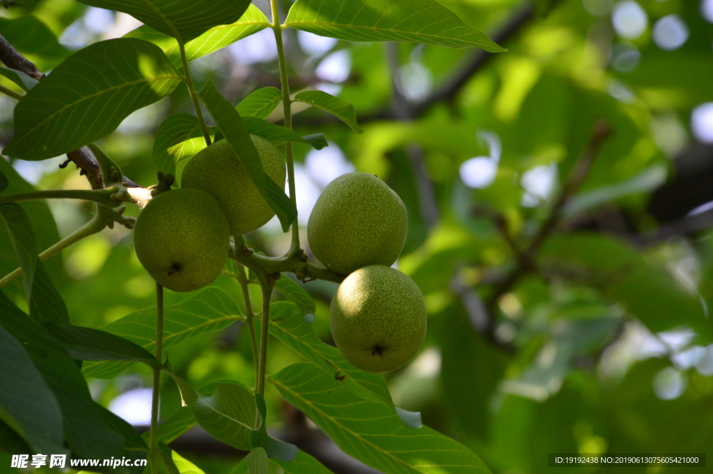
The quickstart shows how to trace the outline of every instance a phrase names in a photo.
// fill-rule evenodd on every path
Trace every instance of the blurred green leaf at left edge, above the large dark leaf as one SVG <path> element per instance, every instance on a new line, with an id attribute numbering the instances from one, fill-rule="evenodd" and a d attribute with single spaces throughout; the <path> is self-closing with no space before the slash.
<path id="1" fill-rule="evenodd" d="M 17 51 L 37 63 L 41 71 L 54 68 L 71 53 L 57 41 L 46 24 L 34 16 L 0 17 L 0 34 Z"/>

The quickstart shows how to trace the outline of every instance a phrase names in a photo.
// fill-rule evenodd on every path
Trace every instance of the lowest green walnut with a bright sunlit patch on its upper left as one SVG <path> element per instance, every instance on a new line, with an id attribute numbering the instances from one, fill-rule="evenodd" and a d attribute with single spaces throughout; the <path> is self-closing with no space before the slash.
<path id="1" fill-rule="evenodd" d="M 424 344 L 426 303 L 416 283 L 399 270 L 370 265 L 339 285 L 329 327 L 350 364 L 367 372 L 393 371 Z"/>

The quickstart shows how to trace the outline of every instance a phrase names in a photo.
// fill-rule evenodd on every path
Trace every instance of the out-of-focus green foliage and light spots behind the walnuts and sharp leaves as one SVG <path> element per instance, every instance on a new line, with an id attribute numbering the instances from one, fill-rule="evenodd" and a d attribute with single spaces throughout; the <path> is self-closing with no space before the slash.
<path id="1" fill-rule="evenodd" d="M 254 3 L 267 11 L 265 1 Z M 295 145 L 300 224 L 307 225 L 324 186 L 351 170 L 378 175 L 409 211 L 398 267 L 424 293 L 429 333 L 411 364 L 386 374 L 396 405 L 421 411 L 426 424 L 473 448 L 495 473 L 543 472 L 554 452 L 704 452 L 713 445 L 713 1 L 441 3 L 509 51 L 486 56 L 286 31 L 292 90 L 339 95 L 354 104 L 364 128 L 355 135 L 319 110 L 297 109 L 300 135 L 322 132 L 330 141 L 320 151 Z M 282 2 L 283 13 L 290 4 Z M 77 48 L 138 26 L 128 15 L 73 0 L 0 10 L 0 34 L 45 72 Z M 198 89 L 215 81 L 232 103 L 279 86 L 270 30 L 192 68 Z M 2 145 L 12 136 L 13 108 L 14 99 L 0 96 Z M 125 175 L 152 185 L 158 125 L 191 108 L 185 88 L 177 88 L 130 115 L 101 148 Z M 612 133 L 578 192 L 557 208 L 600 119 Z M 88 187 L 63 161 L 0 160 L 0 170 L 19 174 L 28 188 Z M 81 202 L 26 209 L 42 249 L 91 217 Z M 553 209 L 543 242 L 530 246 Z M 4 232 L 2 274 L 16 267 Z M 271 255 L 289 246 L 277 220 L 247 241 Z M 83 240 L 46 267 L 73 324 L 98 327 L 153 304 L 153 280 L 123 227 Z M 219 277 L 214 284 L 242 304 L 237 282 Z M 336 284 L 304 288 L 317 301 L 314 327 L 329 342 Z M 21 282 L 8 291 L 24 304 Z M 185 295 L 166 298 L 173 304 Z M 250 386 L 242 329 L 185 341 L 170 351 L 173 367 L 194 386 L 220 378 Z M 269 372 L 299 361 L 278 341 L 270 345 Z M 135 366 L 89 384 L 115 413 L 148 424 L 148 371 Z M 173 384 L 161 396 L 163 417 L 180 408 Z M 336 456 L 274 388 L 266 397 L 275 431 L 311 433 L 305 450 L 325 463 Z M 207 473 L 230 472 L 240 460 L 215 445 L 174 447 Z M 373 472 L 334 459 L 328 465 L 335 472 Z"/>

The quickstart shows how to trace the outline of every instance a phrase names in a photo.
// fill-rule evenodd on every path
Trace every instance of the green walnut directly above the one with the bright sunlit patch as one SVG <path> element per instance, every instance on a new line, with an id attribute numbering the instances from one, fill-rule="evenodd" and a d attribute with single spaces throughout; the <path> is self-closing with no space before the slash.
<path id="1" fill-rule="evenodd" d="M 334 272 L 391 266 L 401 254 L 409 217 L 401 198 L 366 172 L 350 172 L 324 188 L 307 222 L 314 257 Z"/>

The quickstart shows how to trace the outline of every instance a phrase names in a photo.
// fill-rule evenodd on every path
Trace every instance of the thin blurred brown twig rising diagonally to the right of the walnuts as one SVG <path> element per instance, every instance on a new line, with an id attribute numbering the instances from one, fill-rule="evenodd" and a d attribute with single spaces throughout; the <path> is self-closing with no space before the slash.
<path id="1" fill-rule="evenodd" d="M 538 230 L 537 234 L 535 234 L 535 237 L 533 237 L 527 249 L 518 255 L 518 262 L 515 264 L 515 268 L 513 268 L 503 282 L 496 287 L 495 291 L 488 299 L 486 308 L 490 314 L 493 314 L 493 310 L 498 304 L 500 297 L 502 297 L 503 294 L 510 292 L 515 287 L 515 284 L 520 281 L 520 278 L 533 270 L 533 262 L 537 256 L 537 252 L 545 243 L 545 240 L 550 237 L 552 232 L 555 230 L 555 227 L 559 224 L 562 218 L 563 208 L 575 195 L 580 185 L 582 185 L 582 182 L 585 180 L 585 177 L 587 177 L 594 159 L 599 154 L 605 140 L 607 140 L 610 136 L 611 131 L 609 123 L 605 120 L 599 120 L 595 124 L 592 136 L 590 137 L 584 151 L 575 163 L 572 172 L 570 172 L 569 177 L 565 181 L 562 191 L 560 192 L 557 200 L 555 200 L 555 204 L 553 205 L 547 220 L 545 220 L 543 225 L 540 226 L 540 230 Z M 491 327 L 489 331 L 493 331 L 493 328 Z"/>

